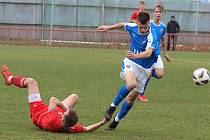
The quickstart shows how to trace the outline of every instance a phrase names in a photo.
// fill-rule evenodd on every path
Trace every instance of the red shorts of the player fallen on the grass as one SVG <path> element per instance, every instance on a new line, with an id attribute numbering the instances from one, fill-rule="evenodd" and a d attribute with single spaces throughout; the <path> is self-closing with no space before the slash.
<path id="1" fill-rule="evenodd" d="M 44 104 L 43 101 L 36 101 L 30 103 L 31 119 L 34 124 L 37 124 L 39 118 L 45 113 L 48 113 L 48 105 Z"/>

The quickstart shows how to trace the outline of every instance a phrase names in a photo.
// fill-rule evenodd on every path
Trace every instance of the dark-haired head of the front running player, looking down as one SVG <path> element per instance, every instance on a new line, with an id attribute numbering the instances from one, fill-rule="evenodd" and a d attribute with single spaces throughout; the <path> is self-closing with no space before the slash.
<path id="1" fill-rule="evenodd" d="M 146 34 L 149 31 L 150 16 L 147 12 L 140 12 L 136 24 L 138 25 L 139 33 Z"/>

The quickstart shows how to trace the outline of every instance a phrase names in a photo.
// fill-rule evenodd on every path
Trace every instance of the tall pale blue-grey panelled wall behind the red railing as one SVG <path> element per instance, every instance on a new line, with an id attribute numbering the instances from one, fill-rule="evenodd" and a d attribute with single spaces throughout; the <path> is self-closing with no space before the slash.
<path id="1" fill-rule="evenodd" d="M 203 0 L 204 1 L 204 0 Z M 151 13 L 165 7 L 163 21 L 176 16 L 182 32 L 210 32 L 210 4 L 200 0 L 145 0 Z M 96 28 L 128 21 L 138 0 L 0 0 L 0 24 L 30 27 Z"/>

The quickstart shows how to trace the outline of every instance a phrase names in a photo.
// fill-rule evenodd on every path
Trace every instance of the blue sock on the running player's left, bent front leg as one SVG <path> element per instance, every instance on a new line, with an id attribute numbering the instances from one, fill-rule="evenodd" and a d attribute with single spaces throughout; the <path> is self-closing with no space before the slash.
<path id="1" fill-rule="evenodd" d="M 128 90 L 125 85 L 122 85 L 117 96 L 115 97 L 113 101 L 114 105 L 118 106 L 120 102 L 128 95 L 129 92 L 130 90 Z"/>

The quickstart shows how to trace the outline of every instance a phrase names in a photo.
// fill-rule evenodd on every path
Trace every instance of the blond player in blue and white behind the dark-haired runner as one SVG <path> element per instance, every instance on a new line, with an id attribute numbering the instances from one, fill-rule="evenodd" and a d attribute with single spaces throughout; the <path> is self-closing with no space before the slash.
<path id="1" fill-rule="evenodd" d="M 163 6 L 162 5 L 156 5 L 153 9 L 153 14 L 154 14 L 154 20 L 150 21 L 150 27 L 152 29 L 154 29 L 157 33 L 157 42 L 158 42 L 158 51 L 160 51 L 160 44 L 161 46 L 164 48 L 164 57 L 166 58 L 166 60 L 168 62 L 171 62 L 171 58 L 166 54 L 166 43 L 165 43 L 165 33 L 166 33 L 166 26 L 163 22 L 161 22 L 161 17 L 163 15 Z M 152 77 L 155 77 L 157 79 L 162 79 L 164 76 L 164 66 L 163 66 L 163 61 L 160 57 L 160 55 L 158 56 L 158 60 L 157 62 L 153 65 L 152 67 Z M 150 77 L 151 78 L 151 77 Z M 146 89 L 146 86 L 150 80 L 150 78 L 148 78 L 144 91 Z M 147 102 L 148 99 L 146 98 L 146 96 L 144 95 L 144 91 L 142 93 L 139 94 L 138 96 L 138 100 L 143 101 L 143 102 Z"/>

